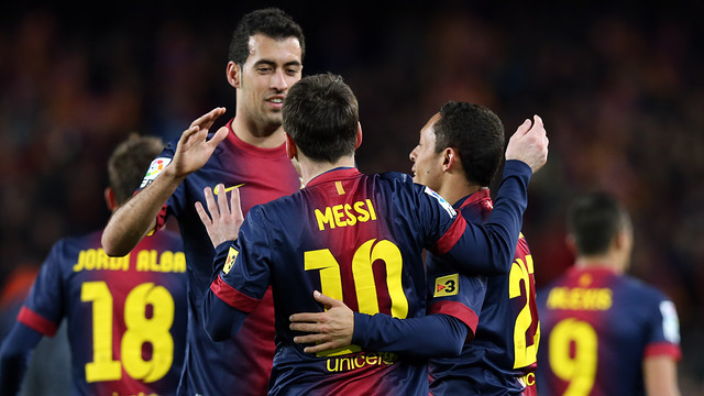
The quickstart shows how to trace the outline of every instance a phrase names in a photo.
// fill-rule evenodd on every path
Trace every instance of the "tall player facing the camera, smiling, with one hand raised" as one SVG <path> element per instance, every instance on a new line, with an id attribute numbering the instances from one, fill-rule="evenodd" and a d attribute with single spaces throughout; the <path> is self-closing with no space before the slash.
<path id="1" fill-rule="evenodd" d="M 215 193 L 222 196 L 239 187 L 246 213 L 256 204 L 300 188 L 286 156 L 282 102 L 300 79 L 304 53 L 301 29 L 283 11 L 264 9 L 244 15 L 234 30 L 227 66 L 228 82 L 235 88 L 235 117 L 208 141 L 208 129 L 224 109 L 194 121 L 154 160 L 142 190 L 106 227 L 106 252 L 121 255 L 161 228 L 165 217 L 178 219 L 189 277 L 188 350 L 179 395 L 224 395 L 233 389 L 238 395 L 266 394 L 274 359 L 271 293 L 237 337 L 219 344 L 210 340 L 201 304 L 215 251 L 194 204 L 204 201 L 204 187 L 222 184 Z"/>

